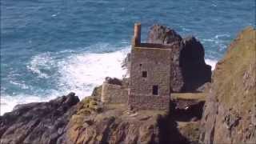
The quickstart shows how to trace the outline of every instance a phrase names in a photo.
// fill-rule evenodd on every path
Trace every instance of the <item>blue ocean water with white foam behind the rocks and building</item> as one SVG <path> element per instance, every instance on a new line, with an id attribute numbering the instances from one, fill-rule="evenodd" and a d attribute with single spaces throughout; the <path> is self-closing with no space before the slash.
<path id="1" fill-rule="evenodd" d="M 2 0 L 0 114 L 122 78 L 134 22 L 143 41 L 154 23 L 196 36 L 214 69 L 254 14 L 254 0 Z"/>

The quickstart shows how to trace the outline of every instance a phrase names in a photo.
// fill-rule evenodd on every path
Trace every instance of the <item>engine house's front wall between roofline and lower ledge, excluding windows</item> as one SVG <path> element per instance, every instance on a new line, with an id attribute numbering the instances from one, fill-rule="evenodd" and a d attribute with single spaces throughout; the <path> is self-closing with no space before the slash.
<path id="1" fill-rule="evenodd" d="M 134 47 L 131 52 L 130 92 L 152 95 L 158 85 L 158 96 L 170 95 L 170 49 Z M 142 78 L 146 71 L 147 77 Z"/>

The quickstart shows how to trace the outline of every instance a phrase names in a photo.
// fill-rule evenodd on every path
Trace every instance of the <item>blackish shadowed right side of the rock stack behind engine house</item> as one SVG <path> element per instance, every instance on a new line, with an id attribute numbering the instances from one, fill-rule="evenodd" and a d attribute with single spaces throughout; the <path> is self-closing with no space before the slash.
<path id="1" fill-rule="evenodd" d="M 179 62 L 184 86 L 182 92 L 197 92 L 206 82 L 211 82 L 211 66 L 204 60 L 202 44 L 194 37 L 184 38 Z"/>

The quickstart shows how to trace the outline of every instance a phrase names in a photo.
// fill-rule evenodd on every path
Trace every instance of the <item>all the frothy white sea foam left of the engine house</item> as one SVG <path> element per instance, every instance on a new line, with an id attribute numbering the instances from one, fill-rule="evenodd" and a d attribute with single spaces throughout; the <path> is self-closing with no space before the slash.
<path id="1" fill-rule="evenodd" d="M 122 60 L 129 52 L 130 46 L 105 54 L 79 53 L 74 51 L 62 51 L 56 54 L 68 54 L 65 58 L 55 58 L 56 55 L 50 53 L 38 54 L 31 59 L 27 66 L 32 74 L 38 78 L 50 78 L 45 70 L 56 69 L 54 74 L 57 78 L 57 90 L 49 90 L 46 94 L 1 94 L 0 114 L 13 110 L 17 104 L 29 102 L 46 102 L 50 99 L 62 96 L 73 91 L 79 98 L 89 96 L 94 86 L 101 85 L 107 76 L 122 78 L 126 70 L 122 69 Z M 12 82 L 16 86 L 23 86 L 18 82 Z M 30 86 L 26 86 L 30 87 Z"/>

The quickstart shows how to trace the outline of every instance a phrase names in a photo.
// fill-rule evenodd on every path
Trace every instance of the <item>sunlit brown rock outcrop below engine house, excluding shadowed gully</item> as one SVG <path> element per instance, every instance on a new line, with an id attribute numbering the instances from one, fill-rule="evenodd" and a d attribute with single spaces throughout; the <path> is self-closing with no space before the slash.
<path id="1" fill-rule="evenodd" d="M 127 110 L 86 98 L 68 124 L 63 143 L 159 143 L 159 111 Z"/>

